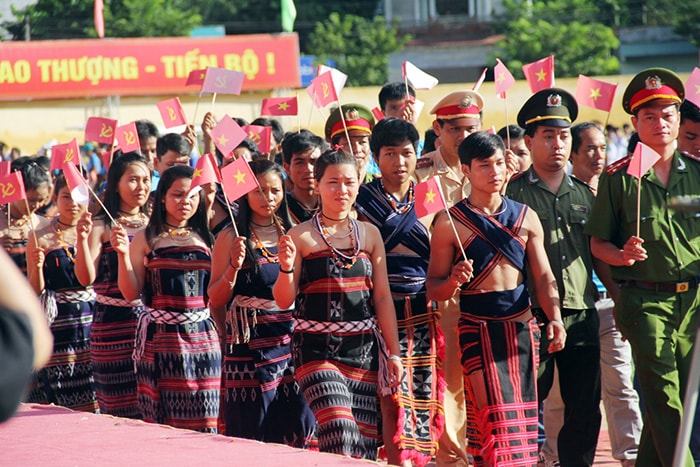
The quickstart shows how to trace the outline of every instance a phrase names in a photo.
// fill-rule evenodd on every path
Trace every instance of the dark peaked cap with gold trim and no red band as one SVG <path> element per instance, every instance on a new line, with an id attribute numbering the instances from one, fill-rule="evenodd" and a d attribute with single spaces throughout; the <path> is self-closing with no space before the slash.
<path id="1" fill-rule="evenodd" d="M 578 117 L 578 104 L 569 92 L 547 88 L 536 92 L 525 101 L 518 112 L 518 125 L 546 125 L 568 128 Z"/>

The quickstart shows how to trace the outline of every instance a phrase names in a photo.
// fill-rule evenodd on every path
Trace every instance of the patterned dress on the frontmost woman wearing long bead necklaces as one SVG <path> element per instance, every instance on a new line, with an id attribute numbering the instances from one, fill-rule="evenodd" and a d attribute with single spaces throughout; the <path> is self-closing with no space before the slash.
<path id="1" fill-rule="evenodd" d="M 292 355 L 319 448 L 374 460 L 381 434 L 372 262 L 360 251 L 346 269 L 324 250 L 304 258 L 300 274 Z"/>

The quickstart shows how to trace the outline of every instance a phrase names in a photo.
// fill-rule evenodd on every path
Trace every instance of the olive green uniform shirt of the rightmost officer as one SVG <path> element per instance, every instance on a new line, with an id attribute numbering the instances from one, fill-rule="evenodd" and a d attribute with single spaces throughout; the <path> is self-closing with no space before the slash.
<path id="1" fill-rule="evenodd" d="M 586 233 L 620 249 L 637 235 L 637 186 L 627 166 L 604 172 Z M 639 236 L 647 259 L 629 267 L 611 266 L 613 279 L 681 282 L 700 276 L 700 213 L 666 208 L 676 196 L 700 197 L 700 163 L 676 152 L 668 186 L 652 169 L 642 176 L 641 188 Z"/>

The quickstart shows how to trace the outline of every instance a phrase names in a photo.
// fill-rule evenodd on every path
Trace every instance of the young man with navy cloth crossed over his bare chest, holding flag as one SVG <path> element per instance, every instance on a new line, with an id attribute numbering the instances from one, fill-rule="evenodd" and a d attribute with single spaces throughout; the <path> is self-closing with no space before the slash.
<path id="1" fill-rule="evenodd" d="M 501 195 L 505 152 L 497 135 L 477 132 L 462 141 L 459 155 L 471 193 L 449 210 L 457 222 L 438 217 L 430 243 L 429 297 L 459 296 L 459 355 L 471 427 L 467 451 L 477 466 L 537 463 L 539 330 L 526 267 L 549 320 L 548 350 L 562 350 L 566 340 L 542 225 L 534 211 Z M 504 419 L 520 423 L 499 423 Z"/>

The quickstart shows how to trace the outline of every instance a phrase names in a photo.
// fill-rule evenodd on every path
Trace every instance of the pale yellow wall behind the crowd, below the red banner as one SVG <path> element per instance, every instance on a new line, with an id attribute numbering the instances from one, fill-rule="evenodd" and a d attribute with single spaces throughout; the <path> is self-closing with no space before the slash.
<path id="1" fill-rule="evenodd" d="M 684 81 L 688 75 L 681 75 Z M 631 76 L 597 77 L 610 83 L 619 83 L 615 103 L 609 122 L 622 125 L 629 122 L 629 116 L 622 110 L 622 93 L 631 79 Z M 557 86 L 575 94 L 576 78 L 557 80 Z M 430 91 L 418 91 L 418 99 L 425 102 L 425 109 L 418 121 L 418 129 L 423 133 L 430 128 L 432 116 L 428 114 L 433 104 L 444 95 L 461 89 L 471 89 L 472 83 L 466 84 L 441 84 Z M 278 117 L 285 129 L 296 129 L 299 125 L 309 128 L 318 134 L 323 133 L 323 124 L 328 116 L 328 110 L 319 110 L 313 107 L 311 99 L 304 89 L 297 91 L 279 91 L 277 95 L 288 96 L 296 92 L 299 96 L 299 117 Z M 378 87 L 346 88 L 341 93 L 341 102 L 356 102 L 369 108 L 378 106 Z M 507 123 L 516 123 L 516 117 L 520 106 L 530 96 L 530 89 L 525 81 L 516 82 L 508 92 L 508 98 L 504 102 L 496 97 L 494 83 L 484 83 L 480 89 L 484 97 L 484 128 L 491 126 L 498 130 Z M 221 116 L 228 113 L 231 116 L 252 120 L 258 116 L 260 102 L 269 94 L 245 94 L 243 96 L 217 96 L 212 105 L 211 96 L 205 96 L 197 105 L 194 95 L 180 96 L 188 119 L 195 118 L 201 123 L 205 112 L 213 110 L 214 114 Z M 118 118 L 120 124 L 126 124 L 133 120 L 147 118 L 161 125 L 160 114 L 156 103 L 172 96 L 123 97 L 118 106 L 113 106 L 110 115 L 104 99 L 72 99 L 55 101 L 22 101 L 0 102 L 0 141 L 10 146 L 22 149 L 23 154 L 33 154 L 51 139 L 59 143 L 70 141 L 76 137 L 79 142 L 83 140 L 83 128 L 89 116 L 108 116 Z M 507 104 L 507 109 L 506 109 Z M 507 118 L 506 118 L 507 112 Z M 581 107 L 578 121 L 598 120 L 605 122 L 607 114 L 603 111 Z"/>

